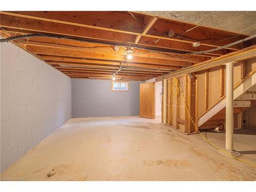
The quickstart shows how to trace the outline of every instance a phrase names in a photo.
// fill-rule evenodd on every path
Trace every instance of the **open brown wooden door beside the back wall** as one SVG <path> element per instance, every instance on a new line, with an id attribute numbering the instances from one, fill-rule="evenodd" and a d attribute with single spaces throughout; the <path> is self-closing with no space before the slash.
<path id="1" fill-rule="evenodd" d="M 140 117 L 155 119 L 155 83 L 140 83 Z"/>

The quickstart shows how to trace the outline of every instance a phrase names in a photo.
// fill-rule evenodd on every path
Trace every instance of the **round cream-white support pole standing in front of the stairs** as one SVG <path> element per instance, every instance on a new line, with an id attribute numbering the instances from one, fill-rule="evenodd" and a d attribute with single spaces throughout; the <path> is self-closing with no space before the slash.
<path id="1" fill-rule="evenodd" d="M 233 62 L 226 63 L 226 150 L 233 151 Z"/>

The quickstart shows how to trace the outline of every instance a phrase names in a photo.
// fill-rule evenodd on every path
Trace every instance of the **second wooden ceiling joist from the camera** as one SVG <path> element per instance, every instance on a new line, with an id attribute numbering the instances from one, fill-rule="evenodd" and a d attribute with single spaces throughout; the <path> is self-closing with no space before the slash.
<path id="1" fill-rule="evenodd" d="M 173 50 L 181 50 L 181 48 L 184 50 L 187 49 L 188 52 L 190 51 L 206 51 L 211 49 L 212 47 L 220 47 L 215 45 L 208 45 L 208 44 L 201 44 L 199 48 L 194 48 L 191 45 L 194 41 L 189 40 L 181 40 L 180 38 L 170 38 L 165 36 L 159 36 L 159 35 L 148 35 L 148 34 L 142 34 L 142 33 L 124 33 L 124 31 L 119 32 L 113 32 L 112 30 L 107 29 L 96 29 L 94 26 L 91 28 L 88 28 L 88 26 L 74 26 L 70 24 L 62 24 L 58 23 L 57 25 L 54 23 L 55 20 L 51 19 L 50 21 L 41 20 L 41 19 L 33 19 L 33 18 L 27 18 L 23 16 L 10 16 L 9 14 L 5 14 L 1 12 L 1 20 L 0 20 L 0 26 L 2 28 L 9 28 L 13 29 L 15 32 L 30 32 L 30 33 L 51 33 L 51 34 L 59 34 L 59 35 L 67 35 L 67 36 L 75 36 L 75 37 L 81 37 L 81 38 L 90 38 L 90 39 L 97 39 L 97 40 L 108 40 L 113 42 L 124 42 L 130 45 L 134 45 L 134 42 L 136 40 L 136 37 L 138 35 L 143 36 L 143 45 L 144 46 L 154 46 L 152 45 L 152 40 L 161 39 L 161 41 L 158 42 L 159 44 L 165 44 L 161 45 L 159 47 L 162 48 L 171 48 Z M 38 21 L 39 20 L 39 21 Z M 18 27 L 17 27 L 18 26 Z M 22 29 L 22 30 L 20 30 Z M 61 30 L 60 30 L 61 29 Z M 74 30 L 75 29 L 75 30 Z M 147 40 L 144 39 L 147 38 Z M 151 40 L 148 40 L 151 39 Z M 154 43 L 153 43 L 154 44 Z M 141 45 L 141 44 L 139 44 Z M 170 46 L 172 45 L 172 46 Z M 229 49 L 229 48 L 226 48 Z M 238 50 L 238 49 L 232 49 L 232 50 Z M 217 51 L 217 55 L 222 55 L 225 52 Z M 215 53 L 212 53 L 215 54 Z"/>

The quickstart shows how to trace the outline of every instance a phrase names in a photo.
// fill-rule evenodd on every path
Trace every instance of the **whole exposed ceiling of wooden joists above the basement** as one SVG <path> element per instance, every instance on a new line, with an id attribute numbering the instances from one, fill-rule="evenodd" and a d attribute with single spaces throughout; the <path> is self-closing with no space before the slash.
<path id="1" fill-rule="evenodd" d="M 45 35 L 13 42 L 74 78 L 109 79 L 123 66 L 116 77 L 146 80 L 255 44 L 252 39 L 207 54 L 187 54 L 219 48 L 247 36 L 128 11 L 2 11 L 0 27 L 5 38 Z M 199 47 L 193 47 L 196 41 Z M 133 58 L 127 59 L 130 48 Z"/>

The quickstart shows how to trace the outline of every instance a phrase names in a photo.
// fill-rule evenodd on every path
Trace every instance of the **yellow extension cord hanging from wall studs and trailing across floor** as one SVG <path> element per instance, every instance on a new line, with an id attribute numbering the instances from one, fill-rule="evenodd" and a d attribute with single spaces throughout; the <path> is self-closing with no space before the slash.
<path id="1" fill-rule="evenodd" d="M 256 167 L 256 165 L 254 165 L 254 164 L 252 164 L 252 163 L 250 163 L 250 162 L 247 162 L 247 161 L 245 161 L 245 160 L 242 160 L 242 159 L 239 159 L 239 158 L 237 158 L 237 157 L 232 156 L 231 154 L 229 154 L 228 152 L 226 152 L 226 151 L 223 150 L 222 148 L 218 147 L 217 145 L 215 145 L 214 143 L 212 143 L 211 141 L 209 141 L 207 138 L 205 138 L 205 137 L 203 136 L 203 134 L 198 130 L 198 125 L 196 125 L 196 123 L 193 121 L 193 119 L 192 119 L 191 116 L 190 116 L 190 112 L 189 112 L 188 106 L 187 106 L 187 104 L 186 104 L 186 102 L 185 102 L 185 98 L 184 98 L 184 95 L 183 95 L 183 91 L 180 92 L 179 78 L 175 77 L 175 78 L 173 79 L 173 81 L 174 81 L 174 82 L 172 83 L 172 89 L 171 89 L 171 96 L 172 96 L 172 98 L 173 98 L 172 93 L 175 93 L 176 97 L 178 97 L 178 96 L 180 96 L 180 95 L 183 97 L 186 112 L 187 112 L 187 114 L 188 114 L 190 120 L 191 120 L 191 121 L 193 122 L 193 124 L 195 125 L 196 130 L 197 130 L 198 133 L 203 137 L 203 139 L 206 140 L 211 146 L 213 146 L 213 147 L 215 147 L 217 150 L 220 150 L 221 152 L 227 154 L 228 156 L 231 156 L 232 158 L 234 158 L 234 159 L 236 159 L 236 160 L 238 160 L 238 161 L 241 161 L 241 162 L 243 162 L 243 163 L 246 163 L 246 164 L 248 164 L 248 165 L 251 165 L 251 166 L 253 166 L 253 167 Z M 174 88 L 175 88 L 176 91 L 172 92 L 172 90 L 174 90 Z M 165 117 L 165 118 L 166 118 L 166 117 Z M 167 120 L 167 118 L 166 118 L 166 120 Z M 197 124 L 198 124 L 198 122 L 197 122 Z"/>

